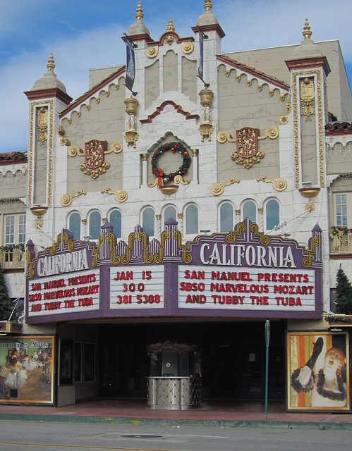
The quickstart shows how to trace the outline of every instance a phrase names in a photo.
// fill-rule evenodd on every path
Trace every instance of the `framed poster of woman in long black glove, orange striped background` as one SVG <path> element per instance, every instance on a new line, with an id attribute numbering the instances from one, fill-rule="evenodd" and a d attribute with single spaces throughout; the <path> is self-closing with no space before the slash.
<path id="1" fill-rule="evenodd" d="M 351 412 L 346 332 L 287 332 L 287 410 Z"/>

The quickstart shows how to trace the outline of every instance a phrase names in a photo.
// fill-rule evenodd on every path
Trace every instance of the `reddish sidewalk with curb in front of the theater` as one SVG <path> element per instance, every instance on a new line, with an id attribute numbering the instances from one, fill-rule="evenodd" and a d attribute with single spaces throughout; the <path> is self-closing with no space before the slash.
<path id="1" fill-rule="evenodd" d="M 352 430 L 352 414 L 286 412 L 284 402 L 204 402 L 198 409 L 153 410 L 143 400 L 90 400 L 63 407 L 0 405 L 0 419 L 163 426 Z"/>

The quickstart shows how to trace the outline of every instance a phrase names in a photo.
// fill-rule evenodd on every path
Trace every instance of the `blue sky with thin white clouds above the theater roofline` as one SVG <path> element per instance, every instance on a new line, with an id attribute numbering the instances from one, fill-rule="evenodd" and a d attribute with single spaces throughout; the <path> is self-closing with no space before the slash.
<path id="1" fill-rule="evenodd" d="M 169 18 L 181 37 L 193 36 L 204 0 L 141 0 L 152 39 Z M 226 33 L 221 51 L 298 44 L 308 17 L 312 39 L 339 39 L 352 86 L 351 0 L 212 0 Z M 0 152 L 28 146 L 28 100 L 23 94 L 46 72 L 55 73 L 74 99 L 88 89 L 88 70 L 125 63 L 121 36 L 135 21 L 138 0 L 0 0 Z M 270 74 L 274 75 L 274 74 Z M 352 118 L 351 118 L 352 121 Z"/>

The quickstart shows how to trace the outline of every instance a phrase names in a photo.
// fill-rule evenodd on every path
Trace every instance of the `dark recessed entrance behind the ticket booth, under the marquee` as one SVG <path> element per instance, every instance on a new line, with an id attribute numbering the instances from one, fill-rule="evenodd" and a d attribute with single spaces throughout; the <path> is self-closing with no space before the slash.
<path id="1" fill-rule="evenodd" d="M 142 323 L 100 326 L 100 395 L 146 397 L 147 345 L 166 340 L 198 345 L 202 399 L 265 398 L 265 321 Z M 272 322 L 269 399 L 284 400 L 286 322 Z"/>

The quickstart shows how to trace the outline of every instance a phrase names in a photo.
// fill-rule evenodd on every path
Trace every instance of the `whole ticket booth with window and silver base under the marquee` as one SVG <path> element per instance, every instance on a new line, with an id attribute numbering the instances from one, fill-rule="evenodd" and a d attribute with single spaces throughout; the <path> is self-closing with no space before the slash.
<path id="1" fill-rule="evenodd" d="M 195 345 L 176 342 L 147 346 L 150 376 L 147 403 L 151 409 L 199 407 L 202 392 L 200 352 Z"/>

